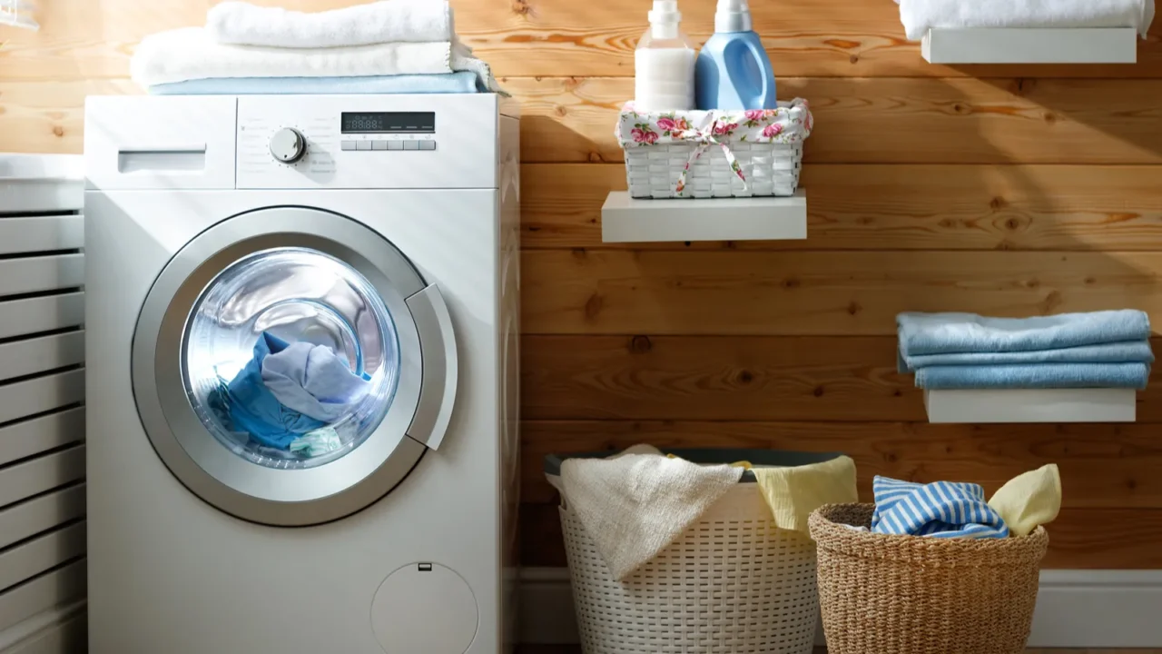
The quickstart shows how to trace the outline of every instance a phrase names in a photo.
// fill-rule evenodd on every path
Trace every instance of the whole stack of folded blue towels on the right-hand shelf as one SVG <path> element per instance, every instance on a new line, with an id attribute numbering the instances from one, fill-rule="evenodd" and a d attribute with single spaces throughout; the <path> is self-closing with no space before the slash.
<path id="1" fill-rule="evenodd" d="M 1145 389 L 1154 353 L 1141 311 L 1035 318 L 902 313 L 901 372 L 921 389 Z"/>

